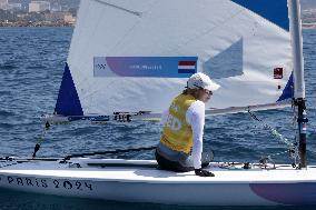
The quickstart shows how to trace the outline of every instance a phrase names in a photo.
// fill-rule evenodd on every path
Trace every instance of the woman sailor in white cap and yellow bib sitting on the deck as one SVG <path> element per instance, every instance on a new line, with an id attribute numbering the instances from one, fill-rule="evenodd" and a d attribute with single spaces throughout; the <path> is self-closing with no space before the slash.
<path id="1" fill-rule="evenodd" d="M 201 160 L 208 158 L 203 153 L 205 103 L 217 88 L 208 76 L 195 73 L 184 92 L 174 99 L 162 114 L 164 129 L 156 149 L 160 169 L 176 172 L 195 170 L 197 176 L 214 177 L 210 171 L 201 169 L 205 164 Z"/>

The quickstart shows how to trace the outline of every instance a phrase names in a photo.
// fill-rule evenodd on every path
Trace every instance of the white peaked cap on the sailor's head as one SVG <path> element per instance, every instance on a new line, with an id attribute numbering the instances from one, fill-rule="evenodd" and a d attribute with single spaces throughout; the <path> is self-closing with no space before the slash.
<path id="1" fill-rule="evenodd" d="M 210 91 L 215 91 L 219 88 L 219 86 L 215 82 L 213 82 L 207 74 L 204 74 L 201 72 L 192 74 L 188 82 L 187 88 L 189 89 L 206 89 Z"/>

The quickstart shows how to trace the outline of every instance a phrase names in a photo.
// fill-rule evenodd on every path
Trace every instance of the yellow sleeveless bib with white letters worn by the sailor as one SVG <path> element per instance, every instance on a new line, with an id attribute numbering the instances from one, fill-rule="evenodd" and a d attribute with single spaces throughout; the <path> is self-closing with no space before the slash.
<path id="1" fill-rule="evenodd" d="M 192 129 L 187 123 L 186 112 L 196 99 L 190 94 L 179 94 L 169 107 L 169 116 L 164 126 L 160 142 L 168 148 L 189 153 L 192 148 Z"/>

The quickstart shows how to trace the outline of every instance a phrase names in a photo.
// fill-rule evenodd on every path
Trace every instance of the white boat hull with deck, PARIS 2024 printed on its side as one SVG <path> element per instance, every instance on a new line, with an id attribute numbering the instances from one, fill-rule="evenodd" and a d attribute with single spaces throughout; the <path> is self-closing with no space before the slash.
<path id="1" fill-rule="evenodd" d="M 13 163 L 13 164 L 12 164 Z M 79 167 L 80 168 L 77 168 Z M 59 161 L 2 161 L 0 188 L 26 192 L 126 202 L 185 206 L 316 204 L 316 167 L 296 170 L 223 168 L 216 177 L 156 169 L 155 161 L 76 159 Z"/>

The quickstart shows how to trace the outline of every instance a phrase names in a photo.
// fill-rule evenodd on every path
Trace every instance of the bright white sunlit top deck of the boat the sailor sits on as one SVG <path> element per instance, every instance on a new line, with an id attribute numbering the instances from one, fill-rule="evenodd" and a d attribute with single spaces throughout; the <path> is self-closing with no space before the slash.
<path id="1" fill-rule="evenodd" d="M 60 161 L 0 162 L 0 174 L 76 178 L 124 182 L 316 182 L 316 166 L 295 169 L 290 164 L 269 164 L 266 168 L 244 163 L 211 162 L 207 168 L 215 177 L 201 178 L 191 172 L 159 170 L 155 160 L 71 159 Z"/>

